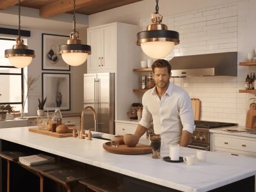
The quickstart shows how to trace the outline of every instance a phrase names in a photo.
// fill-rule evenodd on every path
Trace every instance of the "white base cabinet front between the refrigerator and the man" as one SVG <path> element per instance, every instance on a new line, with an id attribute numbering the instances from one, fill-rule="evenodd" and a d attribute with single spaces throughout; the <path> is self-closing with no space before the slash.
<path id="1" fill-rule="evenodd" d="M 115 134 L 120 134 L 120 135 L 134 134 L 134 132 L 137 129 L 137 126 L 138 126 L 138 124 L 116 122 Z M 143 136 L 141 136 L 141 138 L 146 139 L 147 138 L 147 134 L 146 133 L 143 134 Z"/>

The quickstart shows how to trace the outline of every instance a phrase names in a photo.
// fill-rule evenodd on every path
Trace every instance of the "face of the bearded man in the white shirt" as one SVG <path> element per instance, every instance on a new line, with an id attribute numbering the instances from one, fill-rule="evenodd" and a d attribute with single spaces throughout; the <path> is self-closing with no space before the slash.
<path id="1" fill-rule="evenodd" d="M 170 83 L 171 75 L 168 74 L 168 68 L 155 68 L 153 78 L 156 83 L 156 86 L 159 88 L 166 88 Z"/>

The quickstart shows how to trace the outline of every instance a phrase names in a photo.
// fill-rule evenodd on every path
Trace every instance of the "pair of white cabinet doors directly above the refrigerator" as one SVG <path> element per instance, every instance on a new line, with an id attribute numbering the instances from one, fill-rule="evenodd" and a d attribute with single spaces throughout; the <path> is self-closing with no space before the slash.
<path id="1" fill-rule="evenodd" d="M 111 69 L 115 69 L 115 24 L 104 25 L 97 28 L 88 28 L 87 43 L 92 47 L 92 54 L 88 56 L 87 61 L 88 71 L 102 70 L 102 72 L 111 72 Z"/>

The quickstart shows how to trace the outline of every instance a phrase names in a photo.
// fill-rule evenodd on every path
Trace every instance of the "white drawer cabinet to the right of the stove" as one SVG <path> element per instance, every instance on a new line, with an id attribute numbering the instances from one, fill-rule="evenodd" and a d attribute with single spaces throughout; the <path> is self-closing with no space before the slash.
<path id="1" fill-rule="evenodd" d="M 211 133 L 211 151 L 256 158 L 256 139 Z"/>

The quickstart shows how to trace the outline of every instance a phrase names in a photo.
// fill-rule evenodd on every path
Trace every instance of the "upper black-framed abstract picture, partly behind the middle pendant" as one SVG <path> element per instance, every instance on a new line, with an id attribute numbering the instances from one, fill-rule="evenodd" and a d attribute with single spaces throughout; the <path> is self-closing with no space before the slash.
<path id="1" fill-rule="evenodd" d="M 70 70 L 70 65 L 58 54 L 58 45 L 66 43 L 68 36 L 42 33 L 42 70 Z"/>

